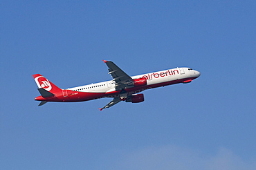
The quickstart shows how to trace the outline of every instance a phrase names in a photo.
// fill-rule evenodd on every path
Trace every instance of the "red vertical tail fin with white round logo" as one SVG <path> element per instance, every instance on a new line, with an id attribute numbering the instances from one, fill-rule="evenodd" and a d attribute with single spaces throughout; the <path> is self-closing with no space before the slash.
<path id="1" fill-rule="evenodd" d="M 55 86 L 55 84 L 53 84 L 40 74 L 33 75 L 33 77 L 35 79 L 35 82 L 37 83 L 38 88 L 44 88 L 44 90 L 49 91 L 53 94 L 57 91 L 62 91 L 61 88 L 58 88 L 57 86 Z"/>

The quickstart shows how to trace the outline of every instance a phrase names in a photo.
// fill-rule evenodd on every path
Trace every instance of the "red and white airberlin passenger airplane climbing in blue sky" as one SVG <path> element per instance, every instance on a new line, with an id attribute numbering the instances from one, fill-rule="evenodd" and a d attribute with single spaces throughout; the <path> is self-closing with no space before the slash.
<path id="1" fill-rule="evenodd" d="M 107 82 L 62 89 L 40 74 L 33 75 L 41 94 L 35 97 L 35 100 L 41 101 L 38 106 L 42 106 L 46 102 L 84 102 L 103 97 L 113 98 L 109 104 L 100 108 L 102 111 L 121 101 L 143 102 L 144 95 L 140 93 L 142 91 L 172 84 L 187 84 L 201 75 L 199 71 L 192 68 L 177 67 L 130 77 L 113 62 L 106 60 L 103 62 L 107 64 L 109 74 L 113 77 Z"/>

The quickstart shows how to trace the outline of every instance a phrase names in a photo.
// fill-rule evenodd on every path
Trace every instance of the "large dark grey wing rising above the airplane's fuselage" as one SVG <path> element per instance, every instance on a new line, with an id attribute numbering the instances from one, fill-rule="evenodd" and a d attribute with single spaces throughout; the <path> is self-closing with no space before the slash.
<path id="1" fill-rule="evenodd" d="M 133 79 L 113 62 L 103 60 L 109 67 L 109 74 L 116 82 L 116 91 L 134 86 Z"/>

